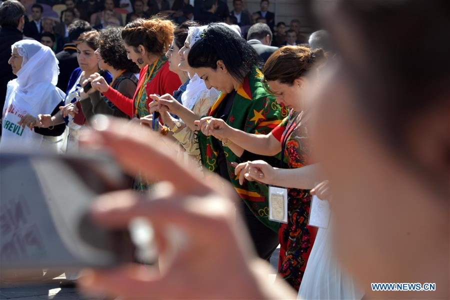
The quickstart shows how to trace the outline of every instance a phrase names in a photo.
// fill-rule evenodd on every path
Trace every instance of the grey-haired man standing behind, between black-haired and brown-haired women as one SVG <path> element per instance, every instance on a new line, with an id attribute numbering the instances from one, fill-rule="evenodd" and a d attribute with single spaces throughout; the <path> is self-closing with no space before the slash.
<path id="1" fill-rule="evenodd" d="M 247 42 L 258 53 L 259 60 L 265 63 L 267 58 L 278 49 L 278 47 L 271 46 L 272 31 L 267 24 L 256 23 L 251 25 L 247 33 Z"/>

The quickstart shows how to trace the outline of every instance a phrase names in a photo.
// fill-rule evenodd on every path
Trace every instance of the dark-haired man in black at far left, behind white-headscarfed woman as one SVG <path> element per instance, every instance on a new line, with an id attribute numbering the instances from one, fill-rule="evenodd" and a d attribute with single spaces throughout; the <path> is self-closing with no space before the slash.
<path id="1" fill-rule="evenodd" d="M 0 107 L 3 108 L 6 97 L 6 84 L 15 75 L 12 73 L 8 59 L 11 56 L 11 45 L 23 39 L 25 24 L 25 7 L 16 0 L 8 0 L 0 6 Z M 1 117 L 1 116 L 0 116 Z M 1 119 L 0 119 L 1 123 Z M 0 126 L 1 134 L 1 126 Z"/>

